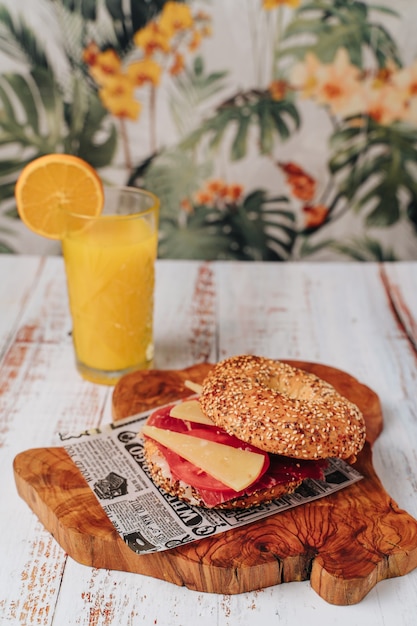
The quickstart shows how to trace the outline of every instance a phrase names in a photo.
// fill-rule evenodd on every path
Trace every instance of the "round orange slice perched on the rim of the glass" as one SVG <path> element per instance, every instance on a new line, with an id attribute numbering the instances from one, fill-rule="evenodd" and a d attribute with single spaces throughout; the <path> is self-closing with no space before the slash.
<path id="1" fill-rule="evenodd" d="M 68 213 L 94 217 L 104 204 L 96 170 L 71 154 L 47 154 L 28 163 L 15 186 L 17 211 L 33 232 L 61 239 Z"/>

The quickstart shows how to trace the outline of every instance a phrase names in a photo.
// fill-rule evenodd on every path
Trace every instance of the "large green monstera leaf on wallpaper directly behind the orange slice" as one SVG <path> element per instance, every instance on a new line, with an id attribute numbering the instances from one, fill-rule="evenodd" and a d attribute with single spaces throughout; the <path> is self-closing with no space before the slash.
<path id="1" fill-rule="evenodd" d="M 115 129 L 103 124 L 104 111 L 96 96 L 89 93 L 85 97 L 88 106 L 83 107 L 81 118 L 77 97 L 72 107 L 64 105 L 49 70 L 38 68 L 28 75 L 0 76 L 0 175 L 7 179 L 1 185 L 0 200 L 13 196 L 20 170 L 42 154 L 75 153 L 94 167 L 111 161 L 117 139 Z M 10 145 L 20 146 L 26 156 L 11 157 Z"/>

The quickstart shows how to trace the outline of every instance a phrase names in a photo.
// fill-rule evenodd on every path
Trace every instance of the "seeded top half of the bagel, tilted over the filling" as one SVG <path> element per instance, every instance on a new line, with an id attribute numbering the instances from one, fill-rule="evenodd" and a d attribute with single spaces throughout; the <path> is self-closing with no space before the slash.
<path id="1" fill-rule="evenodd" d="M 203 383 L 200 405 L 220 428 L 272 454 L 352 462 L 365 443 L 356 405 L 281 361 L 250 355 L 221 361 Z"/>

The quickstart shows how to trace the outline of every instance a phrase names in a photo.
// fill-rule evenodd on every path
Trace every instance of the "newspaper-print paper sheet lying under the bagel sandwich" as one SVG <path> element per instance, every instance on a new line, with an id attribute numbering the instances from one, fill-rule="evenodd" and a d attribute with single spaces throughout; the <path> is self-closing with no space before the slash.
<path id="1" fill-rule="evenodd" d="M 60 435 L 120 537 L 137 554 L 169 550 L 244 526 L 362 478 L 344 461 L 331 459 L 325 480 L 307 479 L 293 494 L 269 504 L 235 511 L 191 506 L 158 488 L 147 474 L 139 433 L 153 410 L 78 435 Z"/>

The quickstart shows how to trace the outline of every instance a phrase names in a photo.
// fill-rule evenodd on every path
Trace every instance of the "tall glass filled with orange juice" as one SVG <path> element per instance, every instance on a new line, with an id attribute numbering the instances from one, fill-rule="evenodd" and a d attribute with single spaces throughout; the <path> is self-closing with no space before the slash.
<path id="1" fill-rule="evenodd" d="M 153 362 L 159 200 L 133 187 L 105 188 L 97 217 L 70 215 L 62 237 L 77 369 L 114 385 Z"/>

